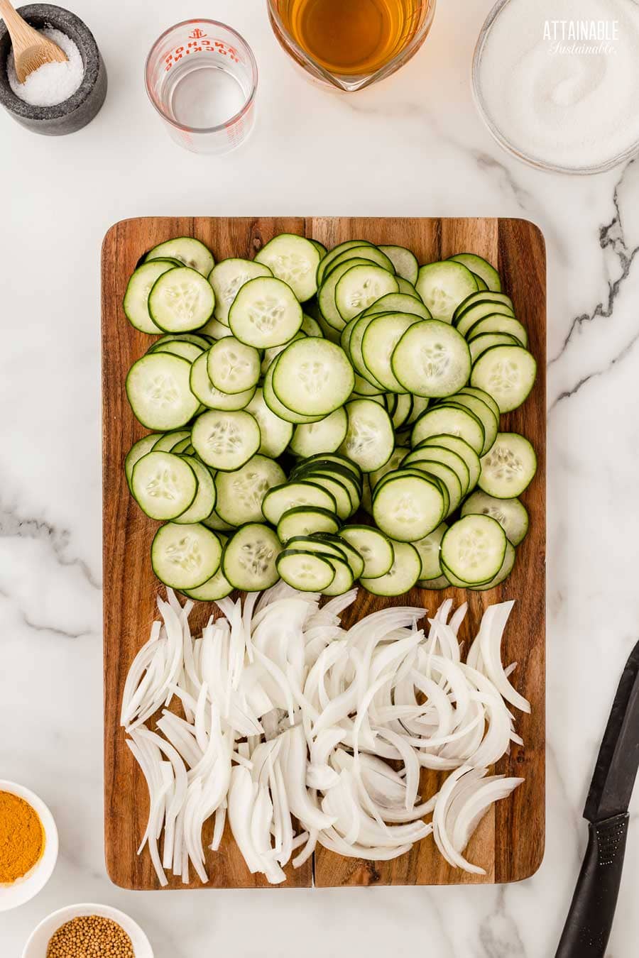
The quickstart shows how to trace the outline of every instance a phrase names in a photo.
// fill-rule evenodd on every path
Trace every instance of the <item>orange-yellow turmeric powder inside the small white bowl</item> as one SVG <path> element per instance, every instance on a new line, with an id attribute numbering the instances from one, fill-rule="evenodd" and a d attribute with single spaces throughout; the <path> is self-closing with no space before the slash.
<path id="1" fill-rule="evenodd" d="M 44 851 L 44 829 L 37 812 L 10 791 L 0 791 L 0 885 L 30 872 Z"/>

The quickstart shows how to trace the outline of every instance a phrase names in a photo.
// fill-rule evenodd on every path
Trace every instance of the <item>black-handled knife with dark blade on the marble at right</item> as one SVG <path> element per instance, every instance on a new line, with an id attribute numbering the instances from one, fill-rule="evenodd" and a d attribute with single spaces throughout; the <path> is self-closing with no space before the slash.
<path id="1" fill-rule="evenodd" d="M 588 847 L 556 958 L 604 958 L 639 767 L 639 642 L 622 674 L 583 810 Z"/>

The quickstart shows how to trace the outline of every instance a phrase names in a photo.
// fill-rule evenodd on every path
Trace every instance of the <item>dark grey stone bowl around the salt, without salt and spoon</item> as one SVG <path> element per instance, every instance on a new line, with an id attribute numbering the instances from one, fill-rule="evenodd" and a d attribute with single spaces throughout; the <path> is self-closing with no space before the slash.
<path id="1" fill-rule="evenodd" d="M 18 12 L 35 30 L 59 30 L 74 41 L 80 51 L 84 73 L 80 86 L 67 100 L 54 106 L 34 106 L 17 97 L 7 74 L 11 37 L 0 21 L 0 103 L 17 123 L 34 133 L 63 136 L 75 133 L 93 120 L 106 97 L 106 68 L 98 44 L 80 17 L 52 4 L 28 4 Z"/>

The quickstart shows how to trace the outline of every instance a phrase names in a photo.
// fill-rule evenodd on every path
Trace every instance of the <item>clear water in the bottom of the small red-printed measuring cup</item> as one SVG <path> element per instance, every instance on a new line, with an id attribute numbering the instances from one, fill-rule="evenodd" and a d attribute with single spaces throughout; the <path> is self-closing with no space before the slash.
<path id="1" fill-rule="evenodd" d="M 226 123 L 246 103 L 240 80 L 205 57 L 194 57 L 167 75 L 164 100 L 183 126 L 206 129 Z"/>

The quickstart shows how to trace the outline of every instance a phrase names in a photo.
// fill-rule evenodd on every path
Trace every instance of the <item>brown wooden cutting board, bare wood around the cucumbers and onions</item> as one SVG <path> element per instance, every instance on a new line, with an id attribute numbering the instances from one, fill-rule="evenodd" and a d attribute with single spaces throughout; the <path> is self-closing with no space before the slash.
<path id="1" fill-rule="evenodd" d="M 509 800 L 499 802 L 482 822 L 468 846 L 470 860 L 486 868 L 485 877 L 450 868 L 435 849 L 432 837 L 409 855 L 391 862 L 361 862 L 320 849 L 314 862 L 295 871 L 280 887 L 369 884 L 457 884 L 504 882 L 529 878 L 543 857 L 545 811 L 545 447 L 546 447 L 546 265 L 544 241 L 533 223 L 521 219 L 434 219 L 352 217 L 163 217 L 127 219 L 107 233 L 103 243 L 103 577 L 104 577 L 104 843 L 110 878 L 125 888 L 153 889 L 155 878 L 148 851 L 136 855 L 148 815 L 147 787 L 125 745 L 119 724 L 126 673 L 140 646 L 147 641 L 156 618 L 155 598 L 160 584 L 154 579 L 148 549 L 156 523 L 148 519 L 129 496 L 123 460 L 129 447 L 146 430 L 133 417 L 125 394 L 129 366 L 149 345 L 149 337 L 126 322 L 122 300 L 126 283 L 138 260 L 156 243 L 176 236 L 203 240 L 216 257 L 252 259 L 278 233 L 296 233 L 319 239 L 331 247 L 345 239 L 369 239 L 410 247 L 420 262 L 472 252 L 494 263 L 513 298 L 517 317 L 530 335 L 536 356 L 536 386 L 525 404 L 502 418 L 502 428 L 521 432 L 536 448 L 538 471 L 522 499 L 531 516 L 531 531 L 517 549 L 513 575 L 487 593 L 414 589 L 405 597 L 431 613 L 448 596 L 456 604 L 468 600 L 468 622 L 479 623 L 491 603 L 515 599 L 516 605 L 504 643 L 505 662 L 516 662 L 517 689 L 532 703 L 531 716 L 517 714 L 517 731 L 524 747 L 513 745 L 497 772 L 523 776 L 525 784 Z M 402 600 L 403 602 L 403 600 Z M 360 590 L 357 602 L 344 617 L 345 625 L 387 604 Z M 194 629 L 204 625 L 212 607 L 194 610 Z M 466 638 L 469 637 L 467 631 Z M 437 776 L 424 773 L 428 794 Z M 210 844 L 211 825 L 205 833 Z M 219 853 L 209 853 L 211 876 L 207 887 L 253 888 L 266 885 L 251 875 L 227 828 Z M 171 888 L 202 887 L 195 880 L 182 885 L 170 878 Z"/>

